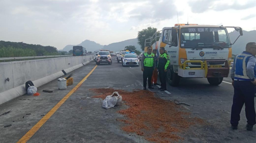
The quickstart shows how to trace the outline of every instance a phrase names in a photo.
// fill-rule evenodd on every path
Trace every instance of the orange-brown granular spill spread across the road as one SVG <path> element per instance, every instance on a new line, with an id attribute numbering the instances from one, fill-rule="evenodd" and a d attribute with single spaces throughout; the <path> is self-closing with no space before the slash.
<path id="1" fill-rule="evenodd" d="M 124 122 L 122 127 L 127 133 L 136 133 L 144 136 L 146 140 L 155 143 L 173 143 L 182 141 L 182 135 L 191 125 L 203 124 L 204 120 L 193 118 L 189 112 L 184 112 L 184 107 L 176 106 L 174 102 L 165 101 L 154 97 L 150 91 L 127 92 L 115 89 L 90 89 L 95 93 L 101 93 L 93 98 L 105 97 L 113 91 L 122 95 L 122 100 L 129 108 L 119 110 L 118 113 L 125 115 L 125 119 L 117 119 Z"/>

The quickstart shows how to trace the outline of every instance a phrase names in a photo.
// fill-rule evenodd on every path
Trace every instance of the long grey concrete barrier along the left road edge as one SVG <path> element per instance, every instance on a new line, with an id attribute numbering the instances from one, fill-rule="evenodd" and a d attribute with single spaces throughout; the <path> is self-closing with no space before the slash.
<path id="1" fill-rule="evenodd" d="M 94 55 L 0 63 L 0 104 L 26 94 L 25 82 L 35 87 L 72 72 L 94 60 Z M 9 78 L 9 81 L 6 79 Z"/>

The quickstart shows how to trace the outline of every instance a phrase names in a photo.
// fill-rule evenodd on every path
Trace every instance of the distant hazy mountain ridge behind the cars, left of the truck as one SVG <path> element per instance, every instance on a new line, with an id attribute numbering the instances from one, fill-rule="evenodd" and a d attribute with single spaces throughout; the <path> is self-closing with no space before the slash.
<path id="1" fill-rule="evenodd" d="M 82 43 L 78 44 L 79 46 L 84 46 L 87 50 L 87 52 L 94 52 L 100 49 L 105 49 L 105 50 L 110 50 L 110 51 L 114 51 L 114 52 L 118 52 L 120 50 L 124 50 L 125 46 L 135 46 L 137 48 L 137 50 L 140 50 L 140 46 L 137 44 L 137 39 L 129 39 L 129 40 L 125 40 L 125 41 L 121 41 L 121 42 L 116 42 L 116 43 L 112 43 L 109 45 L 100 45 L 94 41 L 90 41 L 90 40 L 85 40 Z M 75 45 L 67 45 L 63 48 L 63 50 L 60 51 L 69 51 L 72 50 L 73 46 Z"/>

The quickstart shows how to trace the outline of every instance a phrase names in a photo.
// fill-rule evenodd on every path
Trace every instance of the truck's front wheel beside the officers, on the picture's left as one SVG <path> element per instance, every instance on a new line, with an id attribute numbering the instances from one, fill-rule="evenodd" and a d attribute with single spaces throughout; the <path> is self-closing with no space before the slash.
<path id="1" fill-rule="evenodd" d="M 171 86 L 179 86 L 180 76 L 177 73 L 174 73 L 172 68 L 172 66 L 167 68 L 167 81 Z"/>

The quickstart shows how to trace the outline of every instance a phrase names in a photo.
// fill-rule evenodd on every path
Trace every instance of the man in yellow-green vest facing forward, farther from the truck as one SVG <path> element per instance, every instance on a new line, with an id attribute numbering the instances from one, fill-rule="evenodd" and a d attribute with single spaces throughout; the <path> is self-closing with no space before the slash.
<path id="1" fill-rule="evenodd" d="M 143 89 L 146 90 L 148 83 L 149 89 L 154 89 L 151 85 L 153 70 L 156 70 L 155 54 L 152 47 L 147 47 L 147 52 L 142 55 L 141 71 L 143 72 Z M 148 80 L 147 80 L 148 79 Z"/>

